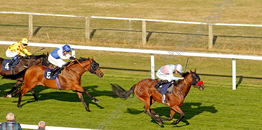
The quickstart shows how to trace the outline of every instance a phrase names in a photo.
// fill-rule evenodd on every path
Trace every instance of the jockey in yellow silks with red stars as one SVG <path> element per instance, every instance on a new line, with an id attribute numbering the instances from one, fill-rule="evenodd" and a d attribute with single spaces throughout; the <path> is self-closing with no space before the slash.
<path id="1" fill-rule="evenodd" d="M 6 56 L 9 58 L 13 58 L 12 61 L 8 64 L 8 66 L 13 68 L 13 62 L 19 58 L 20 56 L 24 56 L 26 58 L 30 58 L 30 52 L 27 51 L 28 45 L 27 38 L 23 38 L 20 42 L 16 42 L 8 47 L 6 51 Z M 26 54 L 23 54 L 21 51 L 24 51 Z"/>

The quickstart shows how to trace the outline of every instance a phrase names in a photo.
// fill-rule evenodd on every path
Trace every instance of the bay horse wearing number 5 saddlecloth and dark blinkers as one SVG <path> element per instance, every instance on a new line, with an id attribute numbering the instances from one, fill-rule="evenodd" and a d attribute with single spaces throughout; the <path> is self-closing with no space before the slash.
<path id="1" fill-rule="evenodd" d="M 23 78 L 25 84 L 20 87 L 19 91 L 17 91 L 19 92 L 17 107 L 21 107 L 20 103 L 22 100 L 22 96 L 37 85 L 43 85 L 49 88 L 58 89 L 58 87 L 56 86 L 56 80 L 50 80 L 44 77 L 46 68 L 48 67 L 34 65 L 29 69 L 24 69 L 20 73 L 15 75 L 3 75 L 3 78 L 7 79 Z M 65 69 L 62 71 L 62 74 L 59 75 L 62 90 L 75 90 L 80 100 L 84 104 L 85 110 L 91 112 L 85 103 L 82 92 L 90 96 L 93 100 L 95 100 L 95 102 L 99 102 L 99 100 L 97 100 L 87 90 L 80 86 L 81 76 L 86 71 L 89 71 L 91 74 L 95 74 L 99 78 L 103 77 L 104 74 L 100 70 L 99 64 L 95 62 L 93 56 L 92 59 L 80 57 L 80 59 L 69 62 L 69 65 L 64 68 Z"/>

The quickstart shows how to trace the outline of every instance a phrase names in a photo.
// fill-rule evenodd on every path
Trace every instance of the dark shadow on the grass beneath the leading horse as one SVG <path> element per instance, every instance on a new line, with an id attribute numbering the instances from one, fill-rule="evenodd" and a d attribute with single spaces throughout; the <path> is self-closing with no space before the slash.
<path id="1" fill-rule="evenodd" d="M 216 108 L 214 106 L 201 106 L 200 102 L 185 102 L 180 107 L 180 109 L 185 114 L 185 117 L 181 120 L 181 122 L 186 123 L 186 125 L 190 124 L 187 121 L 188 119 L 191 119 L 194 116 L 203 113 L 204 111 L 211 112 L 211 113 L 216 113 L 217 112 L 217 110 L 216 110 Z M 157 112 L 159 114 L 159 116 L 162 117 L 162 118 L 165 118 L 165 117 L 169 118 L 170 117 L 170 110 L 171 110 L 170 107 L 163 106 L 163 107 L 153 108 L 152 110 Z M 127 112 L 130 113 L 130 114 L 136 115 L 136 114 L 143 113 L 144 109 L 143 109 L 143 106 L 141 106 L 141 110 L 136 110 L 136 109 L 133 109 L 133 108 L 127 108 Z M 163 116 L 165 116 L 165 117 L 163 117 Z M 176 112 L 176 114 L 174 115 L 172 120 L 177 120 L 180 117 L 181 117 L 181 115 Z M 148 118 L 151 118 L 151 117 L 148 116 Z M 163 122 L 163 124 L 174 125 L 174 124 L 171 124 L 171 121 L 162 121 L 162 122 Z M 151 122 L 158 124 L 155 119 L 152 119 Z M 167 123 L 167 122 L 169 122 L 169 123 Z M 174 126 L 174 127 L 182 127 L 182 126 L 186 126 L 186 125 Z"/>

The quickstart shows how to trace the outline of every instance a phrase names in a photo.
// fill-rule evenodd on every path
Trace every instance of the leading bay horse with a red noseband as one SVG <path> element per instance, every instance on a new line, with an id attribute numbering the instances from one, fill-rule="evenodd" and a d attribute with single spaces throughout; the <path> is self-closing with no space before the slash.
<path id="1" fill-rule="evenodd" d="M 191 86 L 197 87 L 199 90 L 203 90 L 205 85 L 203 85 L 203 81 L 200 81 L 200 77 L 195 72 L 191 73 L 186 72 L 182 74 L 182 77 L 185 77 L 184 80 L 178 80 L 174 85 L 173 91 L 171 94 L 166 94 L 166 105 L 171 107 L 170 117 L 169 118 L 161 118 L 158 113 L 151 110 L 150 106 L 155 102 L 162 103 L 163 95 L 160 94 L 156 89 L 155 85 L 158 83 L 158 80 L 154 80 L 151 78 L 143 79 L 139 81 L 137 84 L 133 85 L 129 91 L 124 90 L 117 84 L 111 84 L 114 93 L 120 97 L 128 99 L 129 96 L 135 94 L 139 100 L 144 102 L 144 113 L 151 116 L 155 119 L 159 125 L 162 125 L 163 120 L 172 120 L 175 112 L 181 114 L 181 117 L 176 121 L 172 121 L 171 124 L 177 124 L 184 118 L 184 113 L 179 108 L 182 106 L 185 97 L 187 96 Z"/>

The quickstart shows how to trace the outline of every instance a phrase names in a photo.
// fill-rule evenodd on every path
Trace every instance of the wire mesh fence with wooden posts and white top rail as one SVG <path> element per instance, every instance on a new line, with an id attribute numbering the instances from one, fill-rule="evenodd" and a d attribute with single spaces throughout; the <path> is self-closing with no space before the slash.
<path id="1" fill-rule="evenodd" d="M 27 15 L 28 20 L 25 19 Z M 21 21 L 22 18 L 24 21 Z M 186 40 L 190 34 L 196 33 L 193 36 L 200 35 L 201 37 L 197 38 L 192 45 L 192 47 L 196 48 L 206 48 L 207 46 L 209 49 L 212 49 L 212 47 L 225 47 L 233 50 L 235 48 L 261 50 L 262 48 L 262 45 L 260 45 L 262 25 L 207 24 L 208 21 L 205 20 L 200 23 L 6 11 L 0 11 L 0 19 L 2 19 L 0 21 L 0 25 L 2 25 L 0 32 L 2 34 L 0 34 L 7 37 L 10 37 L 10 35 L 13 35 L 13 37 L 26 37 L 28 35 L 29 39 L 33 37 L 49 39 L 50 36 L 52 39 L 85 40 L 86 43 L 91 40 L 98 42 L 114 42 L 116 40 L 117 42 L 143 43 L 143 45 L 146 45 L 146 43 L 148 45 L 174 45 Z M 20 20 L 17 22 L 17 19 Z M 55 21 L 60 22 L 58 24 L 57 22 L 54 23 Z M 28 33 L 24 31 L 27 26 Z M 199 28 L 195 28 L 196 26 L 199 26 Z M 13 30 L 22 31 L 13 33 Z"/>

